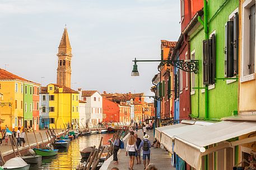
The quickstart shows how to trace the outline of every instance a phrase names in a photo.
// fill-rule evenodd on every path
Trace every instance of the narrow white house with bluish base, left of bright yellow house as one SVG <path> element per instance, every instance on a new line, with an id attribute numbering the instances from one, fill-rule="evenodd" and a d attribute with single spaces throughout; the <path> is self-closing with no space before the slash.
<path id="1" fill-rule="evenodd" d="M 39 128 L 48 129 L 49 119 L 49 93 L 47 87 L 41 87 L 40 90 L 40 108 L 39 108 Z"/>

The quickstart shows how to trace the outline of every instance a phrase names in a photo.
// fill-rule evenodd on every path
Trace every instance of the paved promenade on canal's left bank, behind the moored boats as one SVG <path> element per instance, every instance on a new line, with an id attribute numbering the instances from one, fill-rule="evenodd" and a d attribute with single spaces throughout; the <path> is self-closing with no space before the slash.
<path id="1" fill-rule="evenodd" d="M 60 134 L 60 131 L 61 130 L 58 130 L 59 134 Z M 39 130 L 39 131 L 35 131 L 35 135 L 36 135 L 36 139 L 38 140 L 38 143 L 39 144 L 42 143 L 41 142 L 42 140 L 40 138 L 39 132 L 42 135 L 44 143 L 48 142 L 47 137 L 46 137 L 46 133 L 45 133 L 46 130 Z M 27 133 L 27 137 L 29 138 L 30 147 L 35 147 L 36 146 L 36 140 L 35 140 L 34 133 L 32 133 L 32 132 Z M 25 140 L 26 140 L 26 137 L 25 137 Z M 50 138 L 49 138 L 49 140 L 50 140 Z M 27 144 L 27 140 L 26 140 L 25 148 L 18 148 L 18 149 L 19 150 L 24 150 L 24 149 L 27 149 L 27 148 L 29 148 L 29 145 Z M 13 153 L 10 139 L 8 140 L 8 145 L 5 145 L 5 140 L 3 140 L 2 146 L 0 146 L 0 150 L 1 150 L 2 154 L 3 154 L 3 156 L 6 156 L 6 155 L 8 155 L 10 153 Z M 16 147 L 15 147 L 15 150 L 16 150 Z"/>

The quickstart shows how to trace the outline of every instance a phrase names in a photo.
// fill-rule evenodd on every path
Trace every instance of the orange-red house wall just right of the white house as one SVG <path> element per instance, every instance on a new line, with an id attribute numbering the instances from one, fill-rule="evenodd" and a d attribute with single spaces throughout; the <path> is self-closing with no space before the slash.
<path id="1" fill-rule="evenodd" d="M 103 122 L 119 122 L 119 106 L 103 97 Z"/>

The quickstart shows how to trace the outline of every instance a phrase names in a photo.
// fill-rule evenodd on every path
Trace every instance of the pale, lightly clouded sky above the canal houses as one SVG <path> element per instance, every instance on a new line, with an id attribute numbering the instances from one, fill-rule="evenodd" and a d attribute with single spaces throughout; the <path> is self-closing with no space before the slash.
<path id="1" fill-rule="evenodd" d="M 161 40 L 180 35 L 179 0 L 2 0 L 0 67 L 43 86 L 56 82 L 58 46 L 67 25 L 72 89 L 150 92 Z"/>

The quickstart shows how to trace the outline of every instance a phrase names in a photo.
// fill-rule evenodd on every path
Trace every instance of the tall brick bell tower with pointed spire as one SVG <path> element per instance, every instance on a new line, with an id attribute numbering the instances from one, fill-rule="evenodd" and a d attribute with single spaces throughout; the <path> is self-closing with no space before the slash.
<path id="1" fill-rule="evenodd" d="M 69 43 L 67 28 L 64 28 L 62 38 L 59 43 L 57 84 L 71 88 L 71 45 Z"/>

